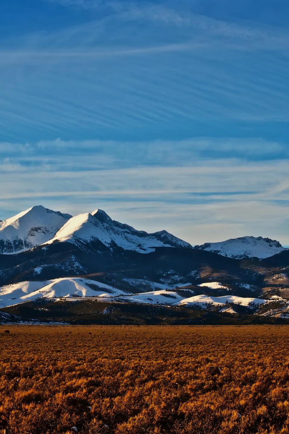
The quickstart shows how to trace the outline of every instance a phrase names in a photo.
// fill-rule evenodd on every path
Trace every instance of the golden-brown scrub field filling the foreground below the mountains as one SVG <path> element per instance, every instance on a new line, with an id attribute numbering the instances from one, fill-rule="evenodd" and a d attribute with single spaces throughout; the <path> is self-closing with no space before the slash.
<path id="1" fill-rule="evenodd" d="M 289 433 L 286 325 L 6 325 L 0 356 L 11 434 Z"/>

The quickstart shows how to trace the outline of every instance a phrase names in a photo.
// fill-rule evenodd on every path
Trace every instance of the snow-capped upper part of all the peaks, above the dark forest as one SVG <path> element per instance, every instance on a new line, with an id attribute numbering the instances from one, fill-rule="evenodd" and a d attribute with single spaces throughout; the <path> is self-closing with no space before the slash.
<path id="1" fill-rule="evenodd" d="M 155 247 L 192 248 L 191 244 L 166 230 L 154 233 L 136 230 L 112 220 L 99 209 L 72 217 L 39 205 L 0 221 L 2 254 L 15 254 L 42 244 L 59 242 L 73 243 L 83 249 L 100 242 L 110 250 L 120 247 L 139 253 L 152 252 Z M 194 248 L 235 259 L 264 259 L 286 250 L 277 240 L 252 236 L 205 243 Z"/>

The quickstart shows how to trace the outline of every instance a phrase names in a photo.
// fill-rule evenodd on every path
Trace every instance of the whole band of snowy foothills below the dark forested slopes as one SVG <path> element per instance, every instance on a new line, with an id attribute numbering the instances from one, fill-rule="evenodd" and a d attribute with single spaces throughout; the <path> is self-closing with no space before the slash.
<path id="1" fill-rule="evenodd" d="M 224 286 L 224 288 L 226 287 Z M 205 286 L 203 289 L 205 290 Z M 97 306 L 99 306 L 100 303 L 106 303 L 103 313 L 113 312 L 118 306 L 123 305 L 123 303 L 172 306 L 177 308 L 189 307 L 192 309 L 211 309 L 211 306 L 217 306 L 220 312 L 230 314 L 237 314 L 239 312 L 237 309 L 238 306 L 249 308 L 252 313 L 255 312 L 254 308 L 258 307 L 257 312 L 255 312 L 256 314 L 260 312 L 260 314 L 264 316 L 280 316 L 281 318 L 288 317 L 289 309 L 288 302 L 283 299 L 281 299 L 281 307 L 277 306 L 278 309 L 276 309 L 276 306 L 273 304 L 273 308 L 270 309 L 268 303 L 274 302 L 275 299 L 260 299 L 234 295 L 218 297 L 208 296 L 206 294 L 194 295 L 193 290 L 184 290 L 178 287 L 174 289 L 164 288 L 150 292 L 128 294 L 114 286 L 83 277 L 66 277 L 34 282 L 26 281 L 3 286 L 0 288 L 0 308 L 19 304 L 22 305 L 23 302 L 36 301 L 36 309 L 47 310 L 45 308 L 46 302 L 48 302 L 49 299 L 51 301 L 59 301 L 60 297 L 65 298 L 69 302 L 77 302 L 83 299 L 87 299 L 90 302 L 95 300 L 97 301 Z M 279 298 L 280 297 L 278 297 L 278 301 Z M 43 300 L 42 305 L 39 305 L 39 302 L 41 302 L 40 299 Z M 46 301 L 44 301 L 45 299 Z M 107 307 L 107 302 L 109 302 L 111 306 Z M 265 313 L 262 313 L 260 307 L 262 305 L 264 307 L 265 303 L 267 303 L 269 308 L 265 309 Z M 38 308 L 37 306 L 44 307 Z M 234 306 L 236 306 L 237 310 L 235 310 Z M 6 315 L 6 313 L 4 315 Z"/>

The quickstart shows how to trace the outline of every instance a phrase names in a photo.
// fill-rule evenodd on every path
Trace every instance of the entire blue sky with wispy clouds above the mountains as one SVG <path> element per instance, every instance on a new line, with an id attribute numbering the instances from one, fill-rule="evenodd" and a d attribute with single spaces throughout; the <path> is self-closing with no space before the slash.
<path id="1" fill-rule="evenodd" d="M 289 245 L 288 1 L 2 0 L 0 219 Z"/>

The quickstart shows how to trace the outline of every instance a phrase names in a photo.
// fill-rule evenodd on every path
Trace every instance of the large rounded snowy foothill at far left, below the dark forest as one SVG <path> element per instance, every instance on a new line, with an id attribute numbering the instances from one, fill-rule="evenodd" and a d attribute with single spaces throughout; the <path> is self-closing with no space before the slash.
<path id="1" fill-rule="evenodd" d="M 0 307 L 37 298 L 54 297 L 111 297 L 124 295 L 113 286 L 81 277 L 65 277 L 43 282 L 20 282 L 0 288 Z"/>

